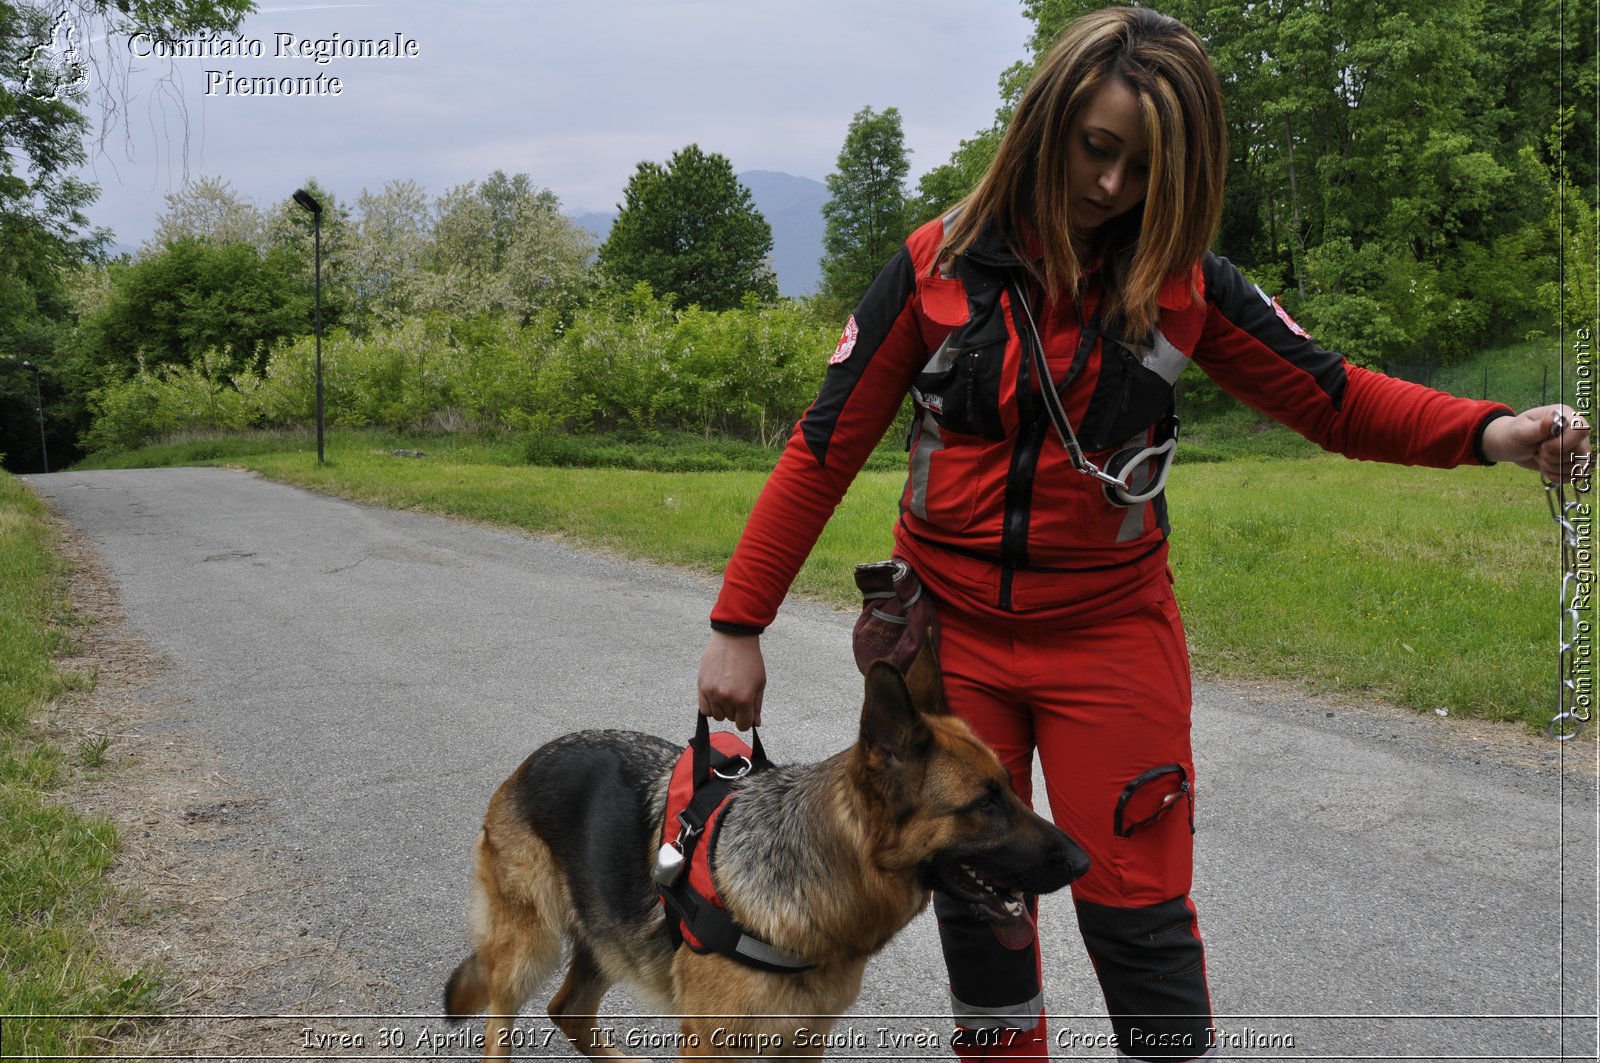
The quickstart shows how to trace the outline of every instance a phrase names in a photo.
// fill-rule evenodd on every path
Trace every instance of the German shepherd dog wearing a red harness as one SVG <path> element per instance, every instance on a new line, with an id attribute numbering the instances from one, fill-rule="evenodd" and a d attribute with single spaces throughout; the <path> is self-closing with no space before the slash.
<path id="1" fill-rule="evenodd" d="M 768 973 L 675 948 L 651 861 L 680 752 L 635 732 L 568 735 L 494 792 L 477 840 L 474 951 L 445 986 L 451 1021 L 488 1009 L 483 1058 L 510 1053 L 512 1023 L 563 940 L 571 957 L 549 1013 L 587 1057 L 634 1058 L 597 1018 L 618 981 L 683 1017 L 670 1044 L 685 1058 L 821 1057 L 867 959 L 930 890 L 1026 940 L 1022 895 L 1088 871 L 1083 850 L 1022 804 L 994 751 L 946 709 L 930 644 L 906 676 L 872 663 L 851 748 L 747 775 L 722 816 L 714 879 L 728 914 L 813 965 Z"/>

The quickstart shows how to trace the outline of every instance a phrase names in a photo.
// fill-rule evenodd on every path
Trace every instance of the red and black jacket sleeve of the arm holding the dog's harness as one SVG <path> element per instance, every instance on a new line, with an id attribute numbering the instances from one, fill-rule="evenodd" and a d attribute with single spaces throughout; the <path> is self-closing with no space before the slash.
<path id="1" fill-rule="evenodd" d="M 938 237 L 938 223 L 914 234 L 845 327 L 822 391 L 795 424 L 728 562 L 710 613 L 718 631 L 755 634 L 773 621 L 822 527 L 894 423 L 928 360 L 917 261 L 931 258 Z"/>

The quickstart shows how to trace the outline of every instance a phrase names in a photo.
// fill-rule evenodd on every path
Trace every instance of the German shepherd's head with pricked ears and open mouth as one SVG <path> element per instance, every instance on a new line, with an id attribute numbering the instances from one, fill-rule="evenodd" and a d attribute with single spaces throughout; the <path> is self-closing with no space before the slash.
<path id="1" fill-rule="evenodd" d="M 858 786 L 883 810 L 885 869 L 915 869 L 997 929 L 1027 919 L 1024 893 L 1088 871 L 1088 855 L 1022 804 L 1000 757 L 949 712 L 931 640 L 904 676 L 888 661 L 867 669 L 854 756 Z"/>

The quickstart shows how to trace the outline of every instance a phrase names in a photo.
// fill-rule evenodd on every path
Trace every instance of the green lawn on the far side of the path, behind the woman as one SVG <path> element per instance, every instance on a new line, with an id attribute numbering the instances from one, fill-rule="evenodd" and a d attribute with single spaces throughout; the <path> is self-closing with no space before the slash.
<path id="1" fill-rule="evenodd" d="M 400 437 L 330 440 L 323 467 L 304 442 L 277 451 L 242 443 L 229 461 L 381 506 L 555 533 L 710 573 L 726 562 L 765 480 L 757 471 L 531 467 L 469 445 L 395 447 Z M 1560 576 L 1555 528 L 1531 474 L 1270 450 L 1272 461 L 1181 458 L 1168 488 L 1173 568 L 1198 674 L 1283 679 L 1314 693 L 1531 727 L 1549 719 Z M 795 592 L 853 602 L 853 565 L 890 549 L 901 483 L 898 472 L 858 479 Z"/>

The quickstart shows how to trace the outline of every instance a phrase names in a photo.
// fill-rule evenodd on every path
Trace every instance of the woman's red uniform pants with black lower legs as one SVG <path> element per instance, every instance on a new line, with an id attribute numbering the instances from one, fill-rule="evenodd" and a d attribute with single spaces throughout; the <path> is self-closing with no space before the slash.
<path id="1" fill-rule="evenodd" d="M 1194 757 L 1178 604 L 1040 629 L 941 602 L 939 628 L 952 711 L 1000 754 L 1026 800 L 1038 749 L 1054 821 L 1090 855 L 1072 897 L 1118 1050 L 1205 1055 L 1211 1005 L 1189 900 Z M 965 905 L 936 897 L 934 913 L 958 1055 L 1048 1058 L 1037 938 L 1008 949 Z"/>

